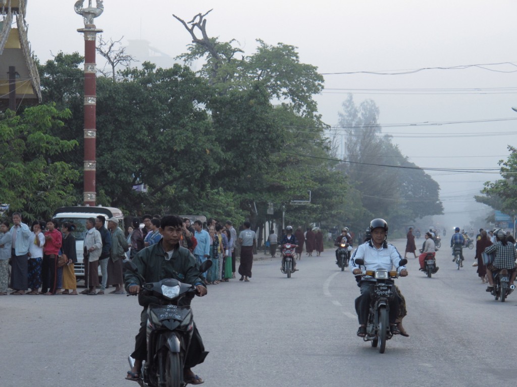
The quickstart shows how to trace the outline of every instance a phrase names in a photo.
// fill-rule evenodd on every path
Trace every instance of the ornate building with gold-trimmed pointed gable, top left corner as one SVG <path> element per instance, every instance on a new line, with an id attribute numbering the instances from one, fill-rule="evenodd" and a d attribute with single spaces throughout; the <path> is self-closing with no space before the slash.
<path id="1" fill-rule="evenodd" d="M 38 70 L 25 23 L 26 0 L 0 0 L 0 110 L 41 102 Z M 12 27 L 16 21 L 16 27 Z"/>

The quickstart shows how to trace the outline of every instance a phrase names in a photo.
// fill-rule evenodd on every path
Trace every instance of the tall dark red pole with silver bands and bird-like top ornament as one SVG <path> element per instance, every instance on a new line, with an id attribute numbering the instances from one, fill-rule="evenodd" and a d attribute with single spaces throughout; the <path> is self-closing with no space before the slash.
<path id="1" fill-rule="evenodd" d="M 84 0 L 75 3 L 75 12 L 82 15 L 84 28 L 77 31 L 84 34 L 84 205 L 95 206 L 97 191 L 95 188 L 96 159 L 95 140 L 96 106 L 97 106 L 97 65 L 95 63 L 97 34 L 102 29 L 96 28 L 94 18 L 97 18 L 104 10 L 102 0 L 96 1 L 96 7 L 92 7 L 92 0 L 88 1 L 88 8 L 83 8 Z"/>

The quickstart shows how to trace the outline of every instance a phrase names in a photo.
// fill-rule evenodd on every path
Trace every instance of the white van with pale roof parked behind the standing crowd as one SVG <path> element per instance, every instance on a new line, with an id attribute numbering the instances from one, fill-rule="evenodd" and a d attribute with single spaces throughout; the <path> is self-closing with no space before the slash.
<path id="1" fill-rule="evenodd" d="M 53 218 L 57 219 L 59 225 L 69 222 L 75 224 L 75 231 L 72 232 L 75 237 L 75 249 L 77 250 L 77 263 L 74 264 L 75 277 L 77 279 L 84 279 L 84 236 L 86 235 L 86 219 L 96 218 L 102 215 L 106 219 L 115 217 L 118 219 L 118 227 L 124 230 L 124 215 L 122 211 L 114 207 L 90 207 L 90 206 L 74 206 L 74 207 L 59 207 L 54 212 Z M 106 224 L 108 226 L 108 224 Z M 100 267 L 99 267 L 100 276 Z"/>

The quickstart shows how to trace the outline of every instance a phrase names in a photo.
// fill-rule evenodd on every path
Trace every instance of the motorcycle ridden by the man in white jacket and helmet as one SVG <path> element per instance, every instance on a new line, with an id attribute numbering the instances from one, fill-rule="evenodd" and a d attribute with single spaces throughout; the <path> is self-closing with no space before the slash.
<path id="1" fill-rule="evenodd" d="M 355 263 L 357 265 L 364 265 L 364 261 L 359 258 L 355 260 Z M 400 260 L 399 267 L 404 266 L 406 263 L 407 260 L 405 258 Z M 384 353 L 386 341 L 392 337 L 389 328 L 389 302 L 394 297 L 397 297 L 393 279 L 398 278 L 399 273 L 397 271 L 377 269 L 375 271 L 363 271 L 359 276 L 371 276 L 375 279 L 366 336 L 363 337 L 363 340 L 371 341 L 372 347 L 378 346 L 379 353 Z"/>

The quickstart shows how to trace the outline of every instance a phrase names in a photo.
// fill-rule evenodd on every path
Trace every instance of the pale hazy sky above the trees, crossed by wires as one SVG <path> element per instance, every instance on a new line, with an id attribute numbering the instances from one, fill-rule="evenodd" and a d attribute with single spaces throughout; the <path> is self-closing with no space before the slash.
<path id="1" fill-rule="evenodd" d="M 74 0 L 27 3 L 29 41 L 41 61 L 59 51 L 84 52 Z M 174 57 L 186 51 L 191 38 L 172 14 L 189 21 L 212 8 L 206 18 L 210 36 L 236 39 L 246 54 L 254 52 L 257 38 L 292 44 L 302 62 L 325 74 L 326 90 L 316 100 L 326 123 L 338 123 L 348 92 L 357 104 L 375 101 L 380 124 L 400 124 L 383 132 L 392 133 L 402 153 L 422 168 L 498 168 L 497 161 L 508 156 L 507 145 L 515 144 L 517 121 L 501 121 L 517 119 L 511 110 L 517 105 L 514 0 L 105 0 L 96 25 L 105 39 L 124 36 L 125 45 L 128 39 L 145 39 Z M 99 56 L 97 62 L 103 64 Z M 511 63 L 487 65 L 504 62 Z M 450 69 L 468 65 L 484 66 Z M 408 73 L 424 68 L 449 69 Z M 460 123 L 418 125 L 424 122 Z M 440 184 L 449 215 L 436 222 L 447 227 L 463 227 L 479 215 L 485 206 L 473 195 L 483 182 L 498 178 L 497 173 L 428 173 Z"/>

